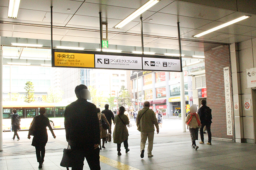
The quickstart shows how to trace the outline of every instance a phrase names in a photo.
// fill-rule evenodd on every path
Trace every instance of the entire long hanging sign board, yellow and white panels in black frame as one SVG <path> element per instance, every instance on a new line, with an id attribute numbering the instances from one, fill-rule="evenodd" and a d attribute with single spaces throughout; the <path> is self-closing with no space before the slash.
<path id="1" fill-rule="evenodd" d="M 102 51 L 52 50 L 52 66 L 119 70 L 182 71 L 180 57 Z"/>

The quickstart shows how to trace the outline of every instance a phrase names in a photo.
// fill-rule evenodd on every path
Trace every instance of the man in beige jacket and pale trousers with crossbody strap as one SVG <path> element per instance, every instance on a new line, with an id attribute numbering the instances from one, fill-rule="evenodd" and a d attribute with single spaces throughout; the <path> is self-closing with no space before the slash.
<path id="1" fill-rule="evenodd" d="M 159 133 L 159 126 L 157 123 L 156 115 L 153 110 L 149 109 L 150 103 L 144 102 L 144 108 L 138 112 L 137 127 L 140 131 L 140 157 L 144 158 L 145 144 L 147 138 L 149 140 L 149 146 L 147 148 L 147 157 L 152 157 L 154 132 L 156 126 L 156 132 Z"/>

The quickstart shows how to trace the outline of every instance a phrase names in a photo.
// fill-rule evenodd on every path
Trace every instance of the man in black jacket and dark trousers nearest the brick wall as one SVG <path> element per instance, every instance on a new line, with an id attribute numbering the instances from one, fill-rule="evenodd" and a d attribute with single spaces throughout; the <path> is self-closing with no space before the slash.
<path id="1" fill-rule="evenodd" d="M 206 126 L 207 133 L 208 133 L 208 143 L 207 145 L 211 145 L 211 109 L 206 106 L 206 100 L 201 100 L 201 107 L 197 110 L 197 113 L 199 114 L 200 120 L 201 120 L 201 128 L 200 128 L 200 136 L 201 141 L 200 144 L 204 144 L 204 126 Z"/>

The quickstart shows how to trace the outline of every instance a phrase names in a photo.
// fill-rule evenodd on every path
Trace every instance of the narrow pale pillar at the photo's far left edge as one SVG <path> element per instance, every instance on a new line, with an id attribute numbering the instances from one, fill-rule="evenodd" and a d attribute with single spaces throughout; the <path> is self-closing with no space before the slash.
<path id="1" fill-rule="evenodd" d="M 0 37 L 0 151 L 3 150 L 3 50 Z"/>

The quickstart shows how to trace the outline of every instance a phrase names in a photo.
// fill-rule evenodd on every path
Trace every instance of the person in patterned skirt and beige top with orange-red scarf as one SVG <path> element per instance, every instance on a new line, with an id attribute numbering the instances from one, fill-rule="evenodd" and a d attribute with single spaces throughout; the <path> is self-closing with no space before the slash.
<path id="1" fill-rule="evenodd" d="M 185 123 L 189 126 L 190 137 L 192 141 L 192 148 L 197 150 L 199 147 L 196 145 L 195 140 L 198 140 L 198 130 L 201 125 L 199 115 L 196 113 L 197 107 L 193 104 L 190 107 L 190 113 L 186 117 Z"/>

